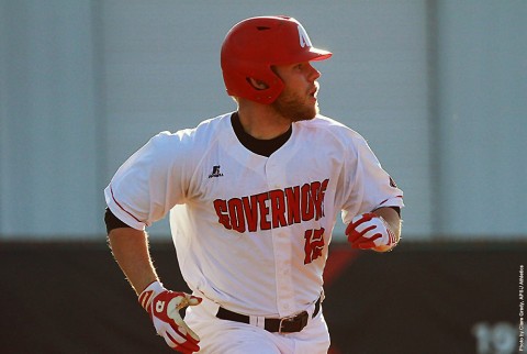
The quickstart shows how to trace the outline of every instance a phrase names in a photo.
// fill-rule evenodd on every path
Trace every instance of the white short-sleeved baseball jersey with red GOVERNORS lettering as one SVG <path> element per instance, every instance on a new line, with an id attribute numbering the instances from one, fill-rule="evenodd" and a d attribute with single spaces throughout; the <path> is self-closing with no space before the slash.
<path id="1" fill-rule="evenodd" d="M 104 190 L 111 211 L 142 230 L 170 211 L 181 274 L 235 312 L 287 317 L 321 296 L 337 213 L 347 224 L 402 191 L 366 141 L 323 115 L 293 123 L 269 157 L 236 137 L 232 113 L 162 132 Z"/>

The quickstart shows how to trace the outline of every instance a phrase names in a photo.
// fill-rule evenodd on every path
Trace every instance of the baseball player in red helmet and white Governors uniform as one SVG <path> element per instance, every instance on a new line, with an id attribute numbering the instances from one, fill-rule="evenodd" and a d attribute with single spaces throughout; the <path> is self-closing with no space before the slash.
<path id="1" fill-rule="evenodd" d="M 237 23 L 221 53 L 237 110 L 154 136 L 105 188 L 113 255 L 173 350 L 327 353 L 337 214 L 355 248 L 397 244 L 402 191 L 358 133 L 318 113 L 312 62 L 330 56 L 292 18 Z M 191 295 L 166 289 L 150 261 L 145 228 L 167 213 Z"/>

